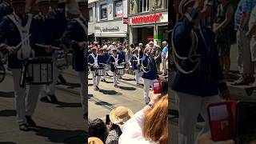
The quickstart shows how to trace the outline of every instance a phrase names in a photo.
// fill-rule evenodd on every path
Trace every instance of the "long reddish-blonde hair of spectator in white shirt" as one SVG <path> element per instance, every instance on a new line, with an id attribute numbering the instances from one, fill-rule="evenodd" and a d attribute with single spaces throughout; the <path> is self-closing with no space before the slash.
<path id="1" fill-rule="evenodd" d="M 163 96 L 153 109 L 145 112 L 143 137 L 159 144 L 168 143 L 168 95 Z"/>

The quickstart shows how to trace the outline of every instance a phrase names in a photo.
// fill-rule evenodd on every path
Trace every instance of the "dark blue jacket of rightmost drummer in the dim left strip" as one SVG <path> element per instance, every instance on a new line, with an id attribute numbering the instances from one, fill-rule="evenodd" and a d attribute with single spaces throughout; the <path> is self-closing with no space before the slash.
<path id="1" fill-rule="evenodd" d="M 84 22 L 87 26 L 87 23 Z M 73 49 L 73 68 L 76 71 L 85 71 L 86 62 L 86 51 L 80 50 L 78 42 L 87 42 L 87 32 L 82 28 L 82 26 L 74 19 L 70 20 L 67 25 L 66 31 L 61 38 L 61 43 L 66 47 L 71 47 Z"/>

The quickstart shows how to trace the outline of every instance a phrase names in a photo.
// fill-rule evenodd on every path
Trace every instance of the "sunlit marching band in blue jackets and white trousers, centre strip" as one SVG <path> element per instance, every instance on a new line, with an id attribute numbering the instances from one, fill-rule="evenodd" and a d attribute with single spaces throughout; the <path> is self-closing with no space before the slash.
<path id="1" fill-rule="evenodd" d="M 166 42 L 164 42 L 166 43 Z M 139 43 L 137 47 L 128 46 L 126 42 L 106 42 L 100 46 L 97 42 L 90 42 L 87 53 L 88 70 L 93 78 L 94 90 L 100 90 L 100 81 L 106 82 L 108 71 L 113 74 L 114 87 L 118 88 L 118 80 L 125 74 L 126 68 L 134 72 L 134 80 L 137 86 L 144 86 L 144 100 L 150 102 L 150 86 L 156 82 L 158 77 L 157 64 L 155 60 L 156 47 L 154 42 L 146 44 Z M 126 48 L 126 49 L 125 49 Z M 89 74 L 89 73 L 88 73 Z M 143 79 L 143 85 L 140 83 Z"/>

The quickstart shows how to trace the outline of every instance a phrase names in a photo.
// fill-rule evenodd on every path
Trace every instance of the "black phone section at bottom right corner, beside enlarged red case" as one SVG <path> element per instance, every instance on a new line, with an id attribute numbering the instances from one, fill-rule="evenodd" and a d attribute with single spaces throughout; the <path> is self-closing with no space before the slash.
<path id="1" fill-rule="evenodd" d="M 236 144 L 256 143 L 256 102 L 238 102 Z"/>

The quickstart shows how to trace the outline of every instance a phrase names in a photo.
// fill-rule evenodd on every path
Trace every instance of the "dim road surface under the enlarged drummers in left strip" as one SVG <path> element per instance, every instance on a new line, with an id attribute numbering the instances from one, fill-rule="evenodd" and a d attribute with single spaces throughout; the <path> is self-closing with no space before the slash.
<path id="1" fill-rule="evenodd" d="M 68 76 L 67 80 L 71 81 L 71 79 L 78 82 L 78 79 Z M 13 90 L 12 77 L 7 75 L 5 81 L 0 83 L 0 143 L 80 144 L 86 142 L 86 126 L 82 119 L 78 94 L 72 94 L 68 90 L 57 90 L 56 94 L 60 101 L 58 104 L 39 101 L 33 116 L 39 127 L 23 132 L 18 130 L 15 118 Z"/>

